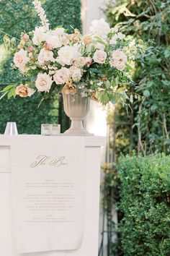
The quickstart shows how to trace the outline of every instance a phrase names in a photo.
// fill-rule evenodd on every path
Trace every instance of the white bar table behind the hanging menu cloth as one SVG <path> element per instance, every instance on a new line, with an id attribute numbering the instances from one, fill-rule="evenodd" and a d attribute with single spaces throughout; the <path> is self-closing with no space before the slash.
<path id="1" fill-rule="evenodd" d="M 17 253 L 12 220 L 10 149 L 18 136 L 0 135 L 0 255 L 21 256 Z M 19 135 L 42 140 L 40 135 Z M 58 137 L 53 137 L 56 140 Z M 81 248 L 75 251 L 53 251 L 22 256 L 97 256 L 99 234 L 100 149 L 104 137 L 86 137 L 85 148 L 85 230 Z M 25 145 L 27 147 L 27 145 Z"/>

